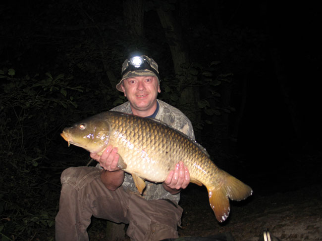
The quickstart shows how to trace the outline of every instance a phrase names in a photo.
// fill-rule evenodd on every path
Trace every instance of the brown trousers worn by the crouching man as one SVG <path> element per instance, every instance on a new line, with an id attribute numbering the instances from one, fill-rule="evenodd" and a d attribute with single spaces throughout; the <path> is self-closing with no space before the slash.
<path id="1" fill-rule="evenodd" d="M 129 224 L 132 241 L 160 241 L 177 238 L 182 208 L 165 200 L 146 201 L 122 187 L 108 190 L 96 167 L 69 167 L 61 174 L 56 241 L 88 241 L 91 217 Z"/>

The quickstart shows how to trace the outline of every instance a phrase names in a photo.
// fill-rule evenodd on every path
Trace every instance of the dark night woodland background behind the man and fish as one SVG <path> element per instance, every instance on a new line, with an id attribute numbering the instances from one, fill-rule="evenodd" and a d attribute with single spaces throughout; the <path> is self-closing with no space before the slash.
<path id="1" fill-rule="evenodd" d="M 129 19 L 134 10 L 124 6 L 138 2 L 144 18 Z M 174 35 L 162 27 L 158 8 L 171 13 Z M 255 194 L 319 185 L 320 15 L 306 2 L 1 3 L 3 237 L 53 232 L 61 171 L 89 161 L 85 151 L 67 149 L 59 133 L 125 101 L 115 83 L 133 51 L 157 61 L 160 98 L 192 120 L 215 163 Z M 140 34 L 133 32 L 138 25 Z M 178 71 L 180 60 L 171 56 L 179 53 L 189 57 Z M 195 95 L 187 102 L 189 87 Z"/>

